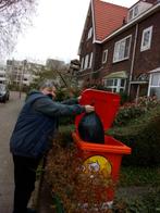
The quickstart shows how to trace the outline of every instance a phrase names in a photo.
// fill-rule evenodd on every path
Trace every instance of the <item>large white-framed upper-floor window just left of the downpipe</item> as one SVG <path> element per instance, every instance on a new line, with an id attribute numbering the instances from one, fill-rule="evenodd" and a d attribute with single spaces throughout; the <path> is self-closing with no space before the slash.
<path id="1" fill-rule="evenodd" d="M 119 62 L 130 57 L 131 36 L 115 42 L 113 62 Z"/>

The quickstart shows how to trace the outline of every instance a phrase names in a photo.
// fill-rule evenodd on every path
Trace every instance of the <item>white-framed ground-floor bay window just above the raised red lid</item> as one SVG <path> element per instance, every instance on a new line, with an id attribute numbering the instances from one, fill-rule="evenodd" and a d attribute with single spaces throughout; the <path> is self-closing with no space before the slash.
<path id="1" fill-rule="evenodd" d="M 126 79 L 108 78 L 103 79 L 103 86 L 112 92 L 121 92 L 125 90 Z"/>

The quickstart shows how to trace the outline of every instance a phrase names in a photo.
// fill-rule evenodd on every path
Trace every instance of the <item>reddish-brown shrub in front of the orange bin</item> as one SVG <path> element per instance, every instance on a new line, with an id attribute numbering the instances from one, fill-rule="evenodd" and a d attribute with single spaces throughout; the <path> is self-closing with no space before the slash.
<path id="1" fill-rule="evenodd" d="M 94 171 L 83 172 L 83 160 L 75 147 L 69 142 L 64 148 L 63 142 L 58 142 L 61 137 L 53 140 L 46 165 L 46 180 L 52 193 L 61 199 L 66 212 L 107 212 L 101 206 L 107 199 L 104 188 L 114 187 L 111 178 Z"/>

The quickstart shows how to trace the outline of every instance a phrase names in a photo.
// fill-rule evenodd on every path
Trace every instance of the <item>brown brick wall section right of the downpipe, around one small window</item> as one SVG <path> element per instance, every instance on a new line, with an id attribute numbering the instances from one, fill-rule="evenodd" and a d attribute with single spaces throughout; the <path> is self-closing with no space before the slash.
<path id="1" fill-rule="evenodd" d="M 160 66 L 160 12 L 155 13 L 147 20 L 139 23 L 136 55 L 134 63 L 134 75 L 138 76 L 140 73 L 147 73 Z M 143 30 L 152 26 L 151 47 L 146 51 L 140 51 Z"/>

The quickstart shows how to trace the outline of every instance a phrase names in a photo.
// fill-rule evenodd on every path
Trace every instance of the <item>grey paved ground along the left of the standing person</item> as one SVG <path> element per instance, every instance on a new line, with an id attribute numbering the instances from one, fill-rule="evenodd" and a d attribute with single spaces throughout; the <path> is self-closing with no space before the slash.
<path id="1" fill-rule="evenodd" d="M 12 213 L 13 203 L 13 163 L 9 140 L 23 104 L 17 92 L 11 92 L 9 102 L 0 102 L 0 213 Z"/>

